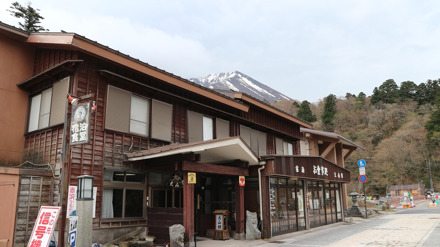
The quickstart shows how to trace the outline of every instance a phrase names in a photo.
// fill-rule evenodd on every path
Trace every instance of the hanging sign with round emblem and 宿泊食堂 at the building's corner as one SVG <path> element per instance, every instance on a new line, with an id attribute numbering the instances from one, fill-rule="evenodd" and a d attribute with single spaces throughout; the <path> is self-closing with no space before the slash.
<path id="1" fill-rule="evenodd" d="M 72 107 L 70 145 L 88 143 L 90 139 L 90 102 Z"/>

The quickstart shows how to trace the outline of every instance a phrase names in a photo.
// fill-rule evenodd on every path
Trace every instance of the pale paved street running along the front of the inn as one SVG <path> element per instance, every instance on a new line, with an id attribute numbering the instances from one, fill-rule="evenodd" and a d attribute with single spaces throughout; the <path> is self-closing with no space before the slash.
<path id="1" fill-rule="evenodd" d="M 415 208 L 397 209 L 396 213 L 369 219 L 355 218 L 354 223 L 339 223 L 292 234 L 266 242 L 215 241 L 200 239 L 197 247 L 439 247 L 440 207 L 423 203 Z"/>

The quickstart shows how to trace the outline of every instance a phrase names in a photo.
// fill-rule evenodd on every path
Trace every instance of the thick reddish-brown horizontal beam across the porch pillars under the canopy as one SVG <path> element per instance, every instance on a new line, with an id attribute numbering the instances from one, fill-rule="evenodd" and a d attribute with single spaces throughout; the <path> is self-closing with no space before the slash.
<path id="1" fill-rule="evenodd" d="M 249 170 L 247 168 L 219 166 L 219 165 L 197 163 L 191 161 L 183 161 L 182 170 L 200 172 L 200 173 L 222 174 L 222 175 L 249 176 Z"/>

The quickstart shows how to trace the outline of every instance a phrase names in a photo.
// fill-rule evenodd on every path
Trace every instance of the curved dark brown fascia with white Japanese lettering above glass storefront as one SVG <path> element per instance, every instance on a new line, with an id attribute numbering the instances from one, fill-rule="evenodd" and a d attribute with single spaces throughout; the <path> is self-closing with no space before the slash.
<path id="1" fill-rule="evenodd" d="M 298 166 L 299 172 L 296 172 Z M 313 173 L 313 166 L 327 168 L 326 175 Z M 304 167 L 304 173 L 301 172 Z M 335 177 L 336 173 L 336 177 Z M 319 156 L 274 156 L 266 160 L 264 175 L 284 175 L 298 178 L 320 179 L 350 183 L 350 172 Z M 342 177 L 338 174 L 343 174 Z"/>

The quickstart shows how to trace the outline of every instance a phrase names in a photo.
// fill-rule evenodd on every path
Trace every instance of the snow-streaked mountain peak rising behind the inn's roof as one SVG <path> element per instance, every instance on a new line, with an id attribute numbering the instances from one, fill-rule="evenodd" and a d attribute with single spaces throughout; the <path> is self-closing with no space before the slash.
<path id="1" fill-rule="evenodd" d="M 188 80 L 210 89 L 243 92 L 261 101 L 265 99 L 270 103 L 281 100 L 293 101 L 293 99 L 239 71 L 214 73 L 206 77 L 190 78 Z"/>

